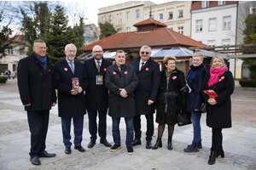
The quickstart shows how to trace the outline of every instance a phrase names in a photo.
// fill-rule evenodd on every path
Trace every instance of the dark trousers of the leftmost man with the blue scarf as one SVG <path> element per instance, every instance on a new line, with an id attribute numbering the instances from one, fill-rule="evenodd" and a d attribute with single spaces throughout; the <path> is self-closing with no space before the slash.
<path id="1" fill-rule="evenodd" d="M 49 111 L 27 111 L 27 121 L 31 133 L 30 156 L 38 156 L 45 148 L 49 124 Z"/>

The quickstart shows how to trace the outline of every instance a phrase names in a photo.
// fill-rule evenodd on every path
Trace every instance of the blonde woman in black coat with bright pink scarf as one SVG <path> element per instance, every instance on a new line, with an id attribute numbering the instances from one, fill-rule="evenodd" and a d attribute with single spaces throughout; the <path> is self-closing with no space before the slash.
<path id="1" fill-rule="evenodd" d="M 208 89 L 218 94 L 210 98 L 204 91 Z M 231 127 L 231 99 L 235 87 L 232 73 L 227 71 L 222 57 L 212 58 L 212 68 L 202 84 L 202 95 L 207 101 L 207 126 L 212 127 L 212 148 L 208 161 L 209 165 L 215 163 L 216 157 L 224 157 L 222 147 L 222 128 Z"/>

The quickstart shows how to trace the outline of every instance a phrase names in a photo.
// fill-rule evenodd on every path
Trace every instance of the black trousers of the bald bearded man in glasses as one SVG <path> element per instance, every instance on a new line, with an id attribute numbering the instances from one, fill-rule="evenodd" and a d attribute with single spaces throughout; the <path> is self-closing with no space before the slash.
<path id="1" fill-rule="evenodd" d="M 108 110 L 87 110 L 88 112 L 88 119 L 89 119 L 89 132 L 90 132 L 90 140 L 96 140 L 97 139 L 97 129 L 98 134 L 102 140 L 106 139 L 107 132 L 107 111 Z M 99 113 L 99 123 L 97 128 L 96 123 L 96 116 L 97 112 Z"/>

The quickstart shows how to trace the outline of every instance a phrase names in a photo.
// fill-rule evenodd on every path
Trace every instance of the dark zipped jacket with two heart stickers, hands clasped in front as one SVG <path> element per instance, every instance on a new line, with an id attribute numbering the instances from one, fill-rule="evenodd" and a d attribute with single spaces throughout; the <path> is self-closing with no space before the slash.
<path id="1" fill-rule="evenodd" d="M 105 77 L 105 85 L 109 89 L 108 114 L 112 117 L 135 116 L 135 95 L 138 79 L 134 67 L 121 65 L 121 71 L 117 65 L 108 67 Z M 125 88 L 128 97 L 120 96 L 119 88 Z"/>

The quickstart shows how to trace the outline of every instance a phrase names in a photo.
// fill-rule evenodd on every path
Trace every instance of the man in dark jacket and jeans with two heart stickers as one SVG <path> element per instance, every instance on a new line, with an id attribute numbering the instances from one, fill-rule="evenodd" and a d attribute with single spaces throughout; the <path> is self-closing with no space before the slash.
<path id="1" fill-rule="evenodd" d="M 138 79 L 134 67 L 125 64 L 125 52 L 118 50 L 115 54 L 115 65 L 108 67 L 105 85 L 109 89 L 108 105 L 109 116 L 112 117 L 113 142 L 110 151 L 120 149 L 121 140 L 119 132 L 120 117 L 125 117 L 127 153 L 133 154 L 133 116 L 135 116 L 134 90 Z"/>

